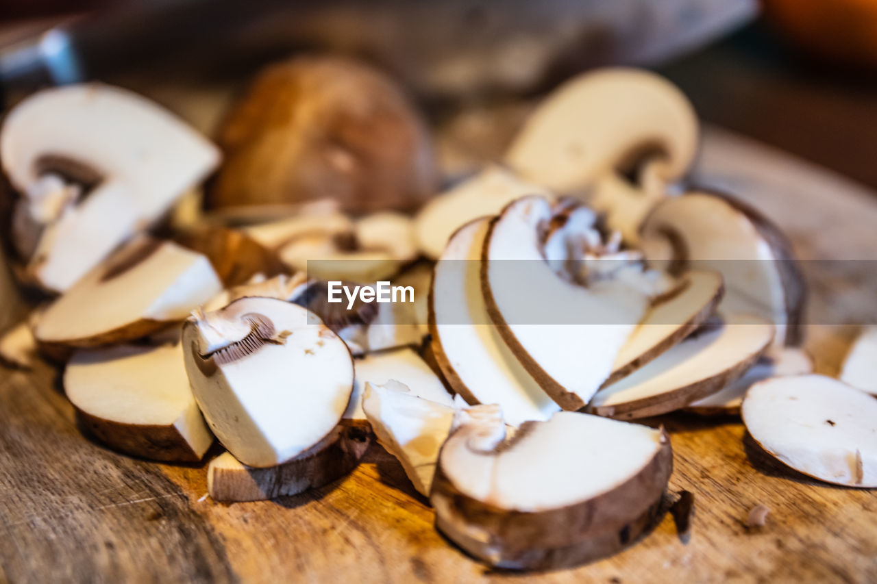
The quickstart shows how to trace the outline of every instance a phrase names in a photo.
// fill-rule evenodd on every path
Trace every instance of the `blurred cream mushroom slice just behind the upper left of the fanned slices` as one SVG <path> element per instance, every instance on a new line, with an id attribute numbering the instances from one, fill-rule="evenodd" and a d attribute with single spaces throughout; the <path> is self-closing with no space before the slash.
<path id="1" fill-rule="evenodd" d="M 420 250 L 426 257 L 437 260 L 460 225 L 477 217 L 496 215 L 507 204 L 525 195 L 550 196 L 544 187 L 525 182 L 504 167 L 485 168 L 431 199 L 420 210 L 415 220 Z"/>

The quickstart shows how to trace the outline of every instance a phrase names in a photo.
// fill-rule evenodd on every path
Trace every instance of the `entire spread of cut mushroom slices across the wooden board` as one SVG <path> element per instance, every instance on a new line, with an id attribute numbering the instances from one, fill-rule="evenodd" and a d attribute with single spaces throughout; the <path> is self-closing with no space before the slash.
<path id="1" fill-rule="evenodd" d="M 607 69 L 413 219 L 317 201 L 159 239 L 216 149 L 121 89 L 47 90 L 8 116 L 0 154 L 18 275 L 60 296 L 0 356 L 65 363 L 83 428 L 119 452 L 199 461 L 218 438 L 217 501 L 325 485 L 376 438 L 439 530 L 494 566 L 573 565 L 648 531 L 672 450 L 630 421 L 678 410 L 739 413 L 788 466 L 877 486 L 877 335 L 842 381 L 811 373 L 787 240 L 680 183 L 697 133 L 672 85 Z M 330 303 L 329 280 L 414 301 Z"/>

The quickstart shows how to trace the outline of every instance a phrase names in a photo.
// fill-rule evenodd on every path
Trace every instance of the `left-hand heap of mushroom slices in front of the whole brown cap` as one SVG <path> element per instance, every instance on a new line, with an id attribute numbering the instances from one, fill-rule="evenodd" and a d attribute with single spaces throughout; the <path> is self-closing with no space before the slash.
<path id="1" fill-rule="evenodd" d="M 82 428 L 103 444 L 193 462 L 217 435 L 233 456 L 210 465 L 215 498 L 269 498 L 358 463 L 371 441 L 366 381 L 392 376 L 450 403 L 411 348 L 427 332 L 431 266 L 416 261 L 410 217 L 354 219 L 316 202 L 289 218 L 274 210 L 269 222 L 226 214 L 168 225 L 219 154 L 154 103 L 109 86 L 32 96 L 6 118 L 0 146 L 16 189 L 18 275 L 53 295 L 4 335 L 0 355 L 24 368 L 38 356 L 64 365 Z M 317 275 L 386 278 L 417 294 L 331 310 L 325 282 L 296 272 L 304 258 L 325 260 Z"/>

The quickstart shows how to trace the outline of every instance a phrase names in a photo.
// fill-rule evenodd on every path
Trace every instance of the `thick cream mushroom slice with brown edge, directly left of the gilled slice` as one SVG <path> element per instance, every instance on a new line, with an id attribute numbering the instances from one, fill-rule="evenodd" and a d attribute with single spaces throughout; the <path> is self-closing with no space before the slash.
<path id="1" fill-rule="evenodd" d="M 80 350 L 64 392 L 82 426 L 118 452 L 197 462 L 213 444 L 182 363 L 182 345 Z"/>

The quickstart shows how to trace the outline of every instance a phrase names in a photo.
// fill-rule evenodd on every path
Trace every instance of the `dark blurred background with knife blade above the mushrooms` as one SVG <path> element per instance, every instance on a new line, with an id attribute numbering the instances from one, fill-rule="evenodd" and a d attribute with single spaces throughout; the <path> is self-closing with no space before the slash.
<path id="1" fill-rule="evenodd" d="M 65 50 L 79 60 L 66 79 L 26 65 L 59 23 L 72 48 L 53 39 L 58 61 Z M 377 62 L 433 120 L 461 104 L 501 107 L 583 68 L 643 65 L 704 121 L 877 187 L 877 0 L 0 1 L 7 104 L 40 84 L 97 78 L 174 107 L 162 88 L 226 95 L 261 64 L 315 49 Z M 207 110 L 183 113 L 210 125 Z"/>

